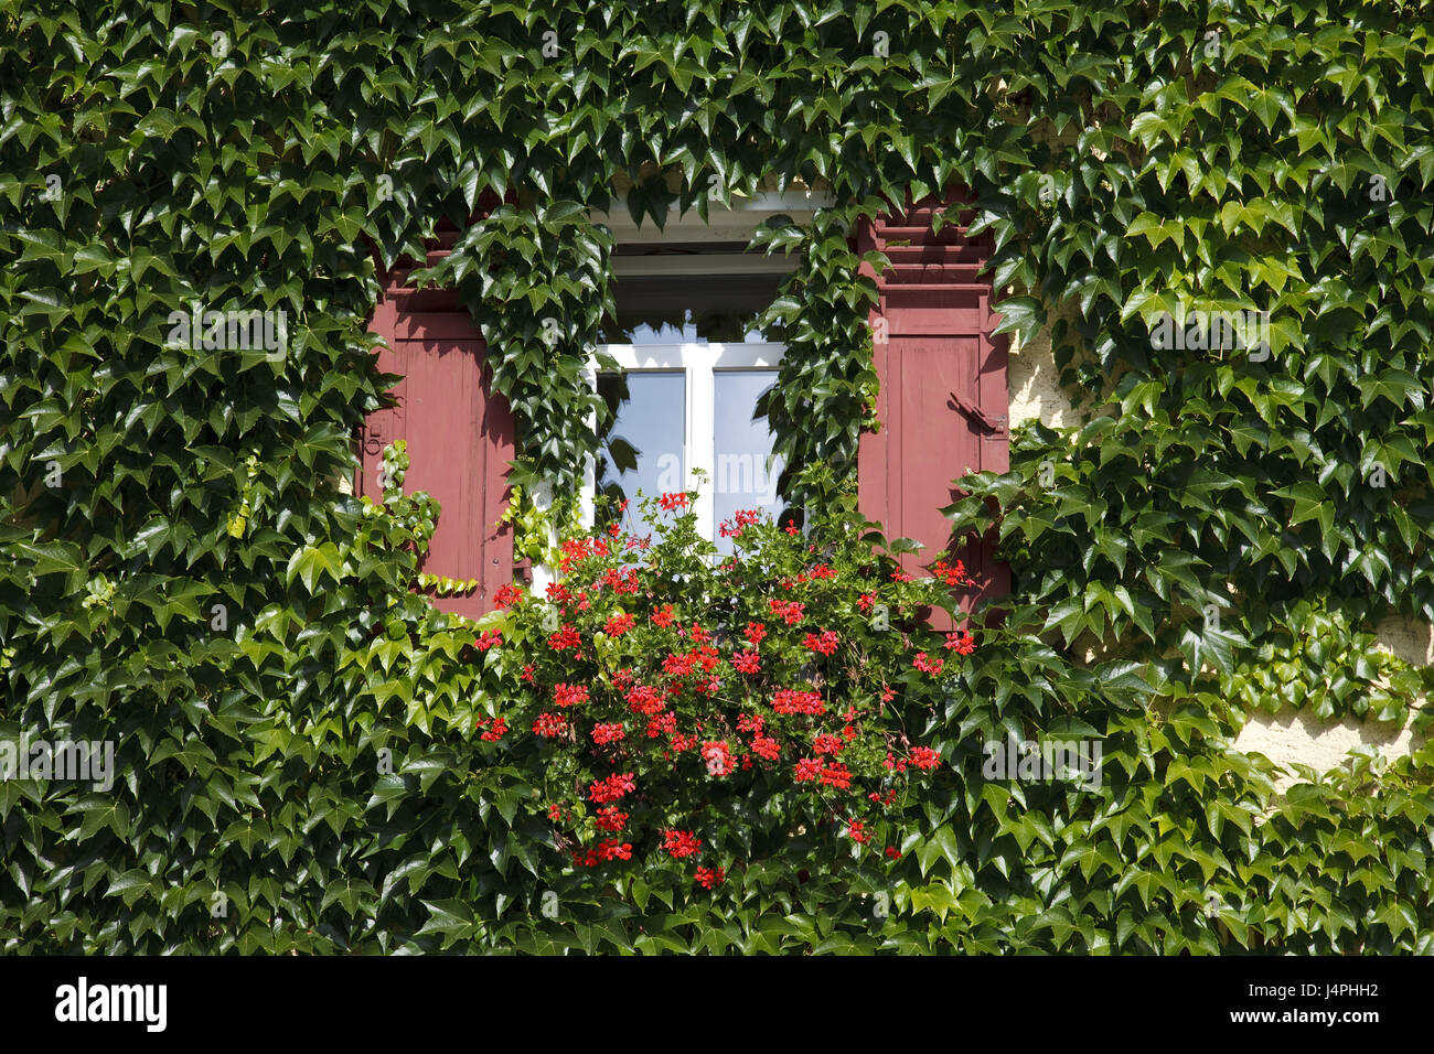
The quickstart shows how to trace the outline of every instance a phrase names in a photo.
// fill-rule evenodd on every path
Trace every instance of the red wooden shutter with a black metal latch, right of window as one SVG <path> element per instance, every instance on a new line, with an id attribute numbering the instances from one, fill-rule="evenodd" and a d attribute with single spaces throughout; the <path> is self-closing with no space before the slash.
<path id="1" fill-rule="evenodd" d="M 936 555 L 961 542 L 956 555 L 977 579 L 958 591 L 969 612 L 982 597 L 1010 591 L 1010 568 L 995 559 L 992 539 L 954 539 L 939 509 L 964 493 L 951 480 L 965 470 L 1010 467 L 1007 343 L 991 333 L 991 284 L 977 278 L 989 238 L 968 238 L 967 217 L 932 234 L 938 206 L 928 199 L 858 231 L 859 251 L 880 250 L 892 261 L 876 280 L 872 315 L 882 430 L 862 436 L 858 483 L 862 512 L 888 538 L 926 546 L 902 556 L 909 574 L 929 574 Z M 946 217 L 958 219 L 956 208 Z M 946 628 L 939 614 L 936 624 Z"/>

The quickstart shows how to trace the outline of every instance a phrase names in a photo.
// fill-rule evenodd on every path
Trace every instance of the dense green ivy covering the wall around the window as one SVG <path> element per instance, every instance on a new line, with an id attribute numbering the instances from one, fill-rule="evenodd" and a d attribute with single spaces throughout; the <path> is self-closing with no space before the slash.
<path id="1" fill-rule="evenodd" d="M 0 782 L 3 946 L 1430 951 L 1431 751 L 1281 790 L 1230 743 L 1276 704 L 1428 724 L 1369 632 L 1434 615 L 1431 14 L 4 0 L 0 740 L 113 743 L 115 780 Z M 862 215 L 971 188 L 1007 327 L 1050 324 L 1078 413 L 964 480 L 1015 592 L 880 869 L 815 835 L 717 895 L 565 868 L 475 730 L 505 697 L 472 627 L 407 588 L 433 503 L 334 488 L 377 268 L 492 194 L 430 278 L 515 480 L 572 490 L 615 169 L 654 221 L 674 169 L 698 211 L 830 185 L 754 248 L 800 257 L 779 449 L 846 489 Z M 1098 739 L 1103 784 L 984 774 L 1041 734 Z"/>

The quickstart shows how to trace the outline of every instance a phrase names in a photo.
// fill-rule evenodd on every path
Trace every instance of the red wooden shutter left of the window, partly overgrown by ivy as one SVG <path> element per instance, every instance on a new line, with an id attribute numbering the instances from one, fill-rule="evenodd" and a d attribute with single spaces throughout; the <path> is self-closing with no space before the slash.
<path id="1" fill-rule="evenodd" d="M 442 241 L 452 245 L 455 234 L 445 232 Z M 430 252 L 429 262 L 442 251 Z M 379 369 L 403 380 L 393 390 L 397 407 L 376 410 L 364 423 L 356 490 L 381 500 L 383 447 L 407 440 L 403 489 L 427 490 L 442 505 L 422 569 L 479 581 L 473 592 L 433 597 L 433 604 L 478 618 L 513 579 L 512 528 L 498 523 L 508 502 L 513 416 L 508 400 L 492 391 L 486 346 L 467 310 L 452 293 L 404 288 L 407 271 L 394 268 L 371 323 L 391 346 L 376 348 Z"/>

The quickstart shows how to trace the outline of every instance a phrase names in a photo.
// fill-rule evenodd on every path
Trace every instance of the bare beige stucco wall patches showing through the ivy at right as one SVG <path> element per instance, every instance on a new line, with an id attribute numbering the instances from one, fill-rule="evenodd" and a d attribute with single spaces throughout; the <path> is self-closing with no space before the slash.
<path id="1" fill-rule="evenodd" d="M 1012 338 L 1008 384 L 1012 427 L 1030 420 L 1051 427 L 1080 423 L 1078 413 L 1061 391 L 1048 331 L 1037 333 L 1025 346 Z M 1434 664 L 1434 627 L 1428 622 L 1391 617 L 1380 624 L 1377 637 L 1382 647 L 1407 663 Z M 1392 727 L 1357 718 L 1318 721 L 1308 713 L 1286 710 L 1252 716 L 1236 737 L 1235 749 L 1265 754 L 1285 767 L 1288 774 L 1279 783 L 1289 786 L 1299 779 L 1289 770 L 1291 764 L 1328 771 L 1355 749 L 1372 749 L 1392 759 L 1410 753 L 1417 743 L 1423 739 L 1417 740 L 1408 724 Z"/>

